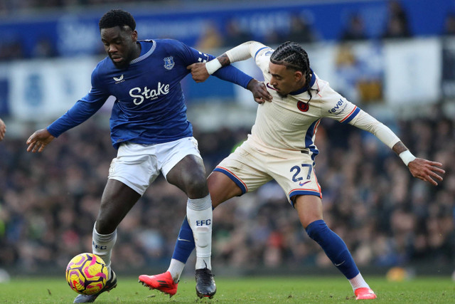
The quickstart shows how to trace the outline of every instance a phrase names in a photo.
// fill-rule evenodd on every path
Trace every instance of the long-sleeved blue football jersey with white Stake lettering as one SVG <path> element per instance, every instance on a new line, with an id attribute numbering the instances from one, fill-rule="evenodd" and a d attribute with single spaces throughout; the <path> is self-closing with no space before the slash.
<path id="1" fill-rule="evenodd" d="M 116 149 L 125 141 L 152 145 L 193 135 L 180 81 L 190 73 L 186 68 L 188 65 L 215 57 L 173 39 L 139 43 L 141 55 L 127 68 L 116 68 L 109 57 L 98 63 L 92 72 L 90 93 L 48 126 L 50 134 L 58 137 L 84 122 L 112 95 L 116 100 L 110 128 L 112 145 Z M 252 79 L 232 65 L 213 75 L 243 88 Z"/>

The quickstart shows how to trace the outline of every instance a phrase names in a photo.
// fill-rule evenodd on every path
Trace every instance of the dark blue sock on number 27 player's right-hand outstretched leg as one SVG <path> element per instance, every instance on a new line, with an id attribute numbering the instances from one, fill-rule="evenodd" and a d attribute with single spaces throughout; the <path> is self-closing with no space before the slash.
<path id="1" fill-rule="evenodd" d="M 306 233 L 323 248 L 333 265 L 338 268 L 346 278 L 351 279 L 360 273 L 350 255 L 346 243 L 335 232 L 331 231 L 322 219 L 314 221 L 306 227 Z"/>

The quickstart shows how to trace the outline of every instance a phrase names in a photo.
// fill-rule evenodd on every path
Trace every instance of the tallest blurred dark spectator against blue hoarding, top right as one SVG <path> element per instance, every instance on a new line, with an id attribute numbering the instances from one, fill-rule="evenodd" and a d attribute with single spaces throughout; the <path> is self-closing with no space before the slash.
<path id="1" fill-rule="evenodd" d="M 405 9 L 397 0 L 389 2 L 388 20 L 382 38 L 409 38 L 412 36 Z"/>

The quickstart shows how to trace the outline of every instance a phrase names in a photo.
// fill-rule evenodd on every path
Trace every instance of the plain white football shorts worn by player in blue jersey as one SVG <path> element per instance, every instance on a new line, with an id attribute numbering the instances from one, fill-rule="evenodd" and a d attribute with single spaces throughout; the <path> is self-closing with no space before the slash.
<path id="1" fill-rule="evenodd" d="M 168 172 L 190 154 L 200 157 L 198 141 L 194 137 L 156 145 L 124 142 L 117 157 L 112 159 L 108 178 L 117 179 L 143 195 L 160 173 L 166 178 Z"/>

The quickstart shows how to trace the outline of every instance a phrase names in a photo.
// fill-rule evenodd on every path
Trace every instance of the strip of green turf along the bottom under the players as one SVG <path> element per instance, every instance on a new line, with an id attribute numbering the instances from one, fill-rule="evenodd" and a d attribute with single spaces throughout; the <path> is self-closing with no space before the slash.
<path id="1" fill-rule="evenodd" d="M 117 288 L 100 295 L 96 303 L 356 303 L 341 276 L 218 277 L 218 292 L 212 300 L 196 296 L 192 278 L 184 278 L 172 298 L 143 287 L 137 278 L 119 276 L 118 280 Z M 455 283 L 450 278 L 388 282 L 370 277 L 368 283 L 378 294 L 374 303 L 455 303 Z M 64 278 L 14 278 L 0 283 L 0 303 L 73 303 L 75 295 Z"/>

